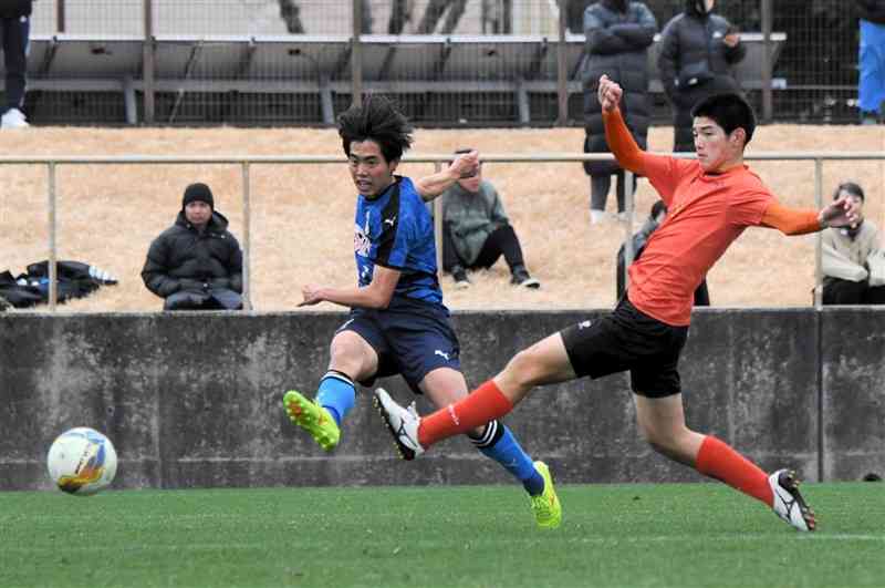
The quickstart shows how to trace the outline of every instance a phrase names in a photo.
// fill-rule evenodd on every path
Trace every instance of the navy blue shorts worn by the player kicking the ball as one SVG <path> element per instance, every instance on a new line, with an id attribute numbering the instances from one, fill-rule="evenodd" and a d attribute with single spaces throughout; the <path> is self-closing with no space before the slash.
<path id="1" fill-rule="evenodd" d="M 353 331 L 378 354 L 378 370 L 361 381 L 372 386 L 376 378 L 402 374 L 413 392 L 437 368 L 461 371 L 460 345 L 441 305 L 395 297 L 383 310 L 355 308 L 337 332 Z"/>

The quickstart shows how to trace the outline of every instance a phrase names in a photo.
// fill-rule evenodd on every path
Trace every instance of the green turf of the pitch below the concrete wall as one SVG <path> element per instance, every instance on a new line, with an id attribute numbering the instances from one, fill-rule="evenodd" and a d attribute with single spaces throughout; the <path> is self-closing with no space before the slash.
<path id="1" fill-rule="evenodd" d="M 885 486 L 811 484 L 799 534 L 717 484 L 0 493 L 0 586 L 885 586 Z"/>

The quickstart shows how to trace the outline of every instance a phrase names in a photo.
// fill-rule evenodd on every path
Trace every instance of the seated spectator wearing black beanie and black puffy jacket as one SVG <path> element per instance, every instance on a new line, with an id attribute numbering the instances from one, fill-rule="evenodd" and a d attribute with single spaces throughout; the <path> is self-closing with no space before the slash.
<path id="1" fill-rule="evenodd" d="M 242 308 L 242 251 L 206 184 L 185 189 L 175 224 L 150 244 L 142 279 L 164 310 Z"/>

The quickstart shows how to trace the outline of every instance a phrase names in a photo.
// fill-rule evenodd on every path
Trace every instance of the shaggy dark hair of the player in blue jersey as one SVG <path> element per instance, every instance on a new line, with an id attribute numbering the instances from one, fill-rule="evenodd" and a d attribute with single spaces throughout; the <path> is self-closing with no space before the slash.
<path id="1" fill-rule="evenodd" d="M 389 163 L 412 146 L 414 128 L 394 103 L 382 94 L 367 94 L 361 106 L 353 105 L 339 116 L 339 135 L 347 157 L 351 143 L 374 141 Z"/>

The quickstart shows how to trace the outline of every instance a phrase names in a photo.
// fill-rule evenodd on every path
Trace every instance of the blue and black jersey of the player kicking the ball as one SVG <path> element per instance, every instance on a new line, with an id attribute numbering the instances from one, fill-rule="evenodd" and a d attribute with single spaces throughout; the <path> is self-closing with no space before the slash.
<path id="1" fill-rule="evenodd" d="M 375 266 L 402 272 L 394 298 L 442 303 L 436 267 L 434 220 L 415 185 L 395 176 L 379 196 L 356 200 L 353 249 L 360 287 L 372 282 Z"/>

